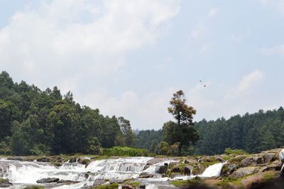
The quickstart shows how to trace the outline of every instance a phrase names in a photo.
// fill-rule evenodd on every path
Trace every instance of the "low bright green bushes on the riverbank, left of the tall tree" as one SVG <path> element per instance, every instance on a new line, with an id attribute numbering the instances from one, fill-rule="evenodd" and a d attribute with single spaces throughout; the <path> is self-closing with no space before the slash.
<path id="1" fill-rule="evenodd" d="M 146 149 L 131 148 L 125 146 L 114 146 L 112 148 L 104 148 L 102 153 L 104 156 L 148 156 Z"/>

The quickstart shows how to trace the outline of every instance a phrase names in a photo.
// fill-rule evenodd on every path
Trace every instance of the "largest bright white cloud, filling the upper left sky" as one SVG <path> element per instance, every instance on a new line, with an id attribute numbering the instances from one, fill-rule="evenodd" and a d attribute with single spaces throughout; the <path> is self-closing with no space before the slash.
<path id="1" fill-rule="evenodd" d="M 178 11 L 172 0 L 43 1 L 0 28 L 0 65 L 40 87 L 74 75 L 106 80 L 126 53 L 155 44 Z"/>

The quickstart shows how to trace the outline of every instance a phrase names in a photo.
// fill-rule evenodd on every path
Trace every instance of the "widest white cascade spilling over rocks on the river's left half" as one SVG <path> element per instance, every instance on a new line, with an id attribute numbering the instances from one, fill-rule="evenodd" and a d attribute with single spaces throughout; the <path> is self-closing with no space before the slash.
<path id="1" fill-rule="evenodd" d="M 63 163 L 62 166 L 56 167 L 48 163 L 0 159 L 0 166 L 3 164 L 9 167 L 6 175 L 2 173 L 2 177 L 9 178 L 15 184 L 35 184 L 41 178 L 59 178 L 92 184 L 98 179 L 138 178 L 149 160 L 149 157 L 98 160 L 92 161 L 85 168 L 80 163 Z"/>

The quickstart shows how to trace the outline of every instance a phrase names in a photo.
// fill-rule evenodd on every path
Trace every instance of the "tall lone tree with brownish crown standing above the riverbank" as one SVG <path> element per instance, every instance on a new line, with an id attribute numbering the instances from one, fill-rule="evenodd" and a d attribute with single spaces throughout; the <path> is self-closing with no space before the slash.
<path id="1" fill-rule="evenodd" d="M 200 137 L 198 131 L 192 127 L 192 119 L 196 110 L 187 105 L 186 102 L 187 99 L 182 90 L 173 94 L 168 112 L 173 114 L 177 123 L 169 121 L 163 126 L 165 141 L 168 141 L 169 144 L 178 144 L 178 156 L 181 155 L 182 146 L 191 146 Z"/>

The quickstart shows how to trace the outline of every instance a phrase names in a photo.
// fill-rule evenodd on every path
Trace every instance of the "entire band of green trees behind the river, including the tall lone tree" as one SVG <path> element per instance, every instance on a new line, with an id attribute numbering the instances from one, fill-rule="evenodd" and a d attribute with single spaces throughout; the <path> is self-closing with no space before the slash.
<path id="1" fill-rule="evenodd" d="M 71 92 L 62 95 L 58 87 L 42 91 L 24 81 L 13 82 L 7 72 L 1 72 L 0 154 L 98 154 L 103 148 L 133 146 L 153 155 L 212 155 L 225 148 L 256 153 L 284 147 L 283 107 L 193 123 L 196 111 L 185 103 L 183 92 L 176 92 L 168 109 L 176 122 L 134 134 L 127 119 L 81 106 Z"/>

